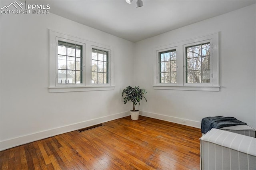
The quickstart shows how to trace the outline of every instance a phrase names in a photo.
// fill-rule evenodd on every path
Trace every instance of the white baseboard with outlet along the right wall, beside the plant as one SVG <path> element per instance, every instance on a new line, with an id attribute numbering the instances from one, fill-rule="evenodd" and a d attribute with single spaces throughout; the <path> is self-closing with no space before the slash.
<path id="1" fill-rule="evenodd" d="M 160 115 L 160 114 L 157 114 L 157 113 L 150 113 L 150 112 L 145 112 L 145 111 L 140 111 L 140 115 L 145 116 L 145 117 L 151 117 L 151 118 L 154 118 L 154 119 L 159 119 L 159 120 L 162 120 L 162 121 L 178 123 L 180 125 L 186 125 L 186 126 L 190 126 L 190 127 L 201 128 L 201 122 L 192 121 L 192 120 L 189 120 L 189 119 L 182 119 L 182 118 L 178 118 L 178 117 Z M 185 120 L 186 123 L 182 123 L 182 120 Z"/>

